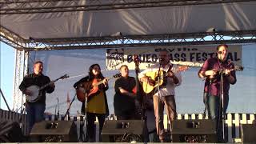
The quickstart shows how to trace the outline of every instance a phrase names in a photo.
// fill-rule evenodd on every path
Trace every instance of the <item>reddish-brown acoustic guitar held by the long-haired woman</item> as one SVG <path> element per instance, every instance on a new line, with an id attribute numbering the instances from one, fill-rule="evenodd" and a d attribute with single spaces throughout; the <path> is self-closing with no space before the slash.
<path id="1" fill-rule="evenodd" d="M 113 79 L 113 78 L 119 78 L 121 77 L 121 74 L 114 74 L 112 77 L 107 78 L 108 80 Z M 98 92 L 98 86 L 103 83 L 103 80 L 98 81 L 98 79 L 94 78 L 90 82 L 84 82 L 82 83 L 82 86 L 78 87 L 76 89 L 76 94 L 78 97 L 78 100 L 80 102 L 85 102 L 86 97 L 89 98 L 96 94 Z"/>

